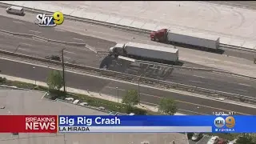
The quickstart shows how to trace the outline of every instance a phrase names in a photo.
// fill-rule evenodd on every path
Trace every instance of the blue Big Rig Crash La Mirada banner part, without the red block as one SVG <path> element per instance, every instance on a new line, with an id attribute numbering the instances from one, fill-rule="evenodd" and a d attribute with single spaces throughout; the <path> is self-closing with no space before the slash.
<path id="1" fill-rule="evenodd" d="M 59 133 L 255 133 L 256 116 L 58 116 Z"/>

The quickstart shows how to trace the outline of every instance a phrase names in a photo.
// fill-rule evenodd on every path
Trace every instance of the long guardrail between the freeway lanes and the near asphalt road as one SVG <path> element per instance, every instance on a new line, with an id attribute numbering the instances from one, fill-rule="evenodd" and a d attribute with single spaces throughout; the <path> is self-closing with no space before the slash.
<path id="1" fill-rule="evenodd" d="M 39 62 L 48 62 L 51 64 L 56 64 L 58 66 L 62 65 L 62 62 L 52 61 L 45 58 L 32 57 L 25 54 L 17 54 L 17 53 L 5 51 L 5 50 L 0 50 L 0 54 L 7 54 L 11 56 L 16 56 L 18 58 L 27 58 L 27 59 L 35 60 Z M 141 83 L 147 86 L 154 86 L 154 87 L 157 86 L 164 89 L 173 88 L 178 90 L 196 91 L 199 94 L 218 94 L 219 97 L 225 97 L 233 100 L 234 99 L 240 100 L 242 102 L 256 103 L 256 98 L 252 98 L 252 97 L 248 97 L 240 94 L 230 94 L 223 91 L 210 90 L 210 89 L 206 89 L 198 86 L 189 86 L 189 85 L 175 83 L 175 82 L 166 82 L 166 81 L 162 81 L 154 78 L 140 77 L 138 75 L 124 74 L 124 73 L 111 71 L 111 70 L 102 70 L 102 69 L 98 69 L 90 66 L 81 66 L 81 65 L 75 65 L 70 63 L 65 63 L 65 65 L 67 67 L 75 68 L 77 70 L 83 70 L 83 71 L 86 70 L 86 72 L 89 72 L 90 74 L 100 74 L 101 76 L 120 79 L 122 81 L 128 81 L 128 82 L 134 82 L 134 83 L 137 83 L 138 81 L 140 81 Z"/>

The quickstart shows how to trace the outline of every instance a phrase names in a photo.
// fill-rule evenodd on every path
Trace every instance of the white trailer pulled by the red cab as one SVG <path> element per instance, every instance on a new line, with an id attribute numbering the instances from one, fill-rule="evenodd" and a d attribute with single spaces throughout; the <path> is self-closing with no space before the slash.
<path id="1" fill-rule="evenodd" d="M 168 30 L 167 39 L 170 42 L 201 46 L 215 50 L 218 49 L 219 46 L 219 38 L 214 35 L 185 30 Z"/>

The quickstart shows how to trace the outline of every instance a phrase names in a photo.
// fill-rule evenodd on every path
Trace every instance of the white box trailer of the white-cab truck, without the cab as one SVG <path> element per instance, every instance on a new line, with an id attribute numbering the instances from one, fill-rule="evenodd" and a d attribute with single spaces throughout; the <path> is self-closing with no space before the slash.
<path id="1" fill-rule="evenodd" d="M 178 62 L 178 49 L 128 42 L 123 47 L 127 55 Z"/>

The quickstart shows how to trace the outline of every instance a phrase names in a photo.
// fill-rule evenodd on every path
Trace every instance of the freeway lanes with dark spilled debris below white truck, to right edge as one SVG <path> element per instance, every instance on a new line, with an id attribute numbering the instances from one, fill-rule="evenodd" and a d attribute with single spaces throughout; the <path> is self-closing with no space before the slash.
<path id="1" fill-rule="evenodd" d="M 117 70 L 129 74 L 143 74 L 146 77 L 161 79 L 168 82 L 177 82 L 191 86 L 198 86 L 210 90 L 225 91 L 232 94 L 242 94 L 250 97 L 255 97 L 256 81 L 242 79 L 234 76 L 215 74 L 199 70 L 178 70 L 174 69 L 170 74 L 162 67 L 150 67 L 147 65 L 127 64 L 130 62 L 119 61 L 114 64 L 114 67 L 109 70 Z M 118 67 L 118 68 L 117 68 Z M 162 70 L 160 70 L 162 69 Z M 163 74 L 162 74 L 163 73 Z M 166 74 L 166 75 L 165 75 Z M 159 78 L 159 75 L 165 75 L 164 78 Z"/>

